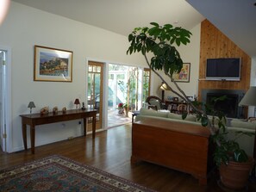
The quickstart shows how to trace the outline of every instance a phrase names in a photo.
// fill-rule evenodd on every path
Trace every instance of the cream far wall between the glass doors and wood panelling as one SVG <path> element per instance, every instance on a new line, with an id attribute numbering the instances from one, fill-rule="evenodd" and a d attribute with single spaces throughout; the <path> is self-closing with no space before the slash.
<path id="1" fill-rule="evenodd" d="M 187 96 L 197 95 L 198 92 L 198 76 L 199 76 L 199 59 L 200 59 L 200 35 L 201 35 L 201 23 L 195 28 L 190 29 L 192 36 L 190 43 L 187 46 L 178 46 L 178 52 L 181 55 L 184 63 L 190 63 L 190 82 L 189 83 L 178 83 L 180 88 L 184 90 Z M 177 90 L 170 81 L 169 77 L 166 77 L 164 72 L 161 72 L 165 80 L 169 82 Z M 159 77 L 153 76 L 153 95 L 158 95 L 161 98 L 161 91 L 159 85 L 161 80 Z M 165 91 L 165 99 L 167 96 L 175 96 L 171 91 Z"/>

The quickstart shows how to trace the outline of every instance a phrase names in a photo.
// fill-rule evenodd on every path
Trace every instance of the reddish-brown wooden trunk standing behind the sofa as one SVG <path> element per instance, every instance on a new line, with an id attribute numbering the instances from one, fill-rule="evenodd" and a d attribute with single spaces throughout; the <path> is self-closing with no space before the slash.
<path id="1" fill-rule="evenodd" d="M 140 160 L 180 170 L 207 184 L 209 129 L 176 121 L 150 119 L 132 127 L 132 163 Z"/>

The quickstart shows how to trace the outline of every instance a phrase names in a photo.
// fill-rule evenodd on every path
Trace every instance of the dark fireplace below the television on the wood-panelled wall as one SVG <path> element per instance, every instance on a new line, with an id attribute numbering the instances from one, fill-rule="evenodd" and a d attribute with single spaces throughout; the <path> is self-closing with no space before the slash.
<path id="1" fill-rule="evenodd" d="M 202 90 L 202 102 L 212 104 L 213 98 L 227 96 L 225 101 L 215 103 L 215 110 L 222 110 L 230 118 L 244 118 L 242 107 L 238 106 L 244 95 L 243 90 Z"/>

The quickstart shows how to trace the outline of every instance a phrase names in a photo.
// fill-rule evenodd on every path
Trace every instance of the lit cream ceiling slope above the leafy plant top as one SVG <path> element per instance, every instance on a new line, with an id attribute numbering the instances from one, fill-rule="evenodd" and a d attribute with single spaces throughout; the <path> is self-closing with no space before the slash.
<path id="1" fill-rule="evenodd" d="M 203 15 L 185 0 L 12 0 L 128 36 L 150 22 L 191 29 Z M 178 22 L 178 23 L 176 23 Z"/>

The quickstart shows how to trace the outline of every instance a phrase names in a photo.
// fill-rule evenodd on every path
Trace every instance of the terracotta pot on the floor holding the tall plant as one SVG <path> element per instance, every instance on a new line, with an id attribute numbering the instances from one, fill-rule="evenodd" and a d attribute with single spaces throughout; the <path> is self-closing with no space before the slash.
<path id="1" fill-rule="evenodd" d="M 253 163 L 254 159 L 249 158 L 245 163 L 229 161 L 228 165 L 222 164 L 219 169 L 222 184 L 229 189 L 244 189 Z"/>

